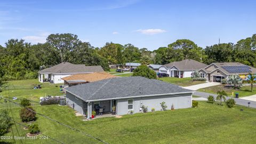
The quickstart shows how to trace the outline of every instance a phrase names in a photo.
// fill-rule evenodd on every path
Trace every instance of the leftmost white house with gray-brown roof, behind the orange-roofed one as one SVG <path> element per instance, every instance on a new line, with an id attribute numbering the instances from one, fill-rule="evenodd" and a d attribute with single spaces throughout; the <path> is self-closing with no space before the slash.
<path id="1" fill-rule="evenodd" d="M 86 74 L 94 72 L 103 72 L 101 66 L 85 66 L 74 65 L 69 62 L 62 62 L 50 68 L 46 68 L 38 71 L 39 82 L 51 82 L 54 84 L 64 83 L 61 79 L 73 74 Z"/>

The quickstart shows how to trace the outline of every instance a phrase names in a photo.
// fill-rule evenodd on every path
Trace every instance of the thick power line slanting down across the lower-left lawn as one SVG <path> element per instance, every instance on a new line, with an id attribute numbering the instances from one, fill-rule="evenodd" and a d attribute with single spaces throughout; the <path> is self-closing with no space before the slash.
<path id="1" fill-rule="evenodd" d="M 5 99 L 5 98 L 3 98 L 3 99 Z M 23 106 L 21 106 L 19 103 L 13 102 L 13 101 L 8 100 L 8 99 L 5 99 L 5 100 L 10 101 L 10 102 L 12 102 L 12 103 L 14 103 L 15 105 L 18 105 L 18 106 L 20 106 L 20 107 L 23 107 Z M 31 109 L 29 109 L 29 108 L 27 108 L 27 107 L 23 107 L 23 108 L 26 108 L 27 110 L 32 111 L 33 113 L 36 113 L 36 111 L 31 110 Z M 85 132 L 83 132 L 83 131 L 81 131 L 81 130 L 77 130 L 77 129 L 75 129 L 74 127 L 71 127 L 71 126 L 68 126 L 68 125 L 66 125 L 66 124 L 63 124 L 63 123 L 61 123 L 61 122 L 59 122 L 59 121 L 57 121 L 57 120 L 55 120 L 55 119 L 52 119 L 52 118 L 50 118 L 50 117 L 48 117 L 48 116 L 46 116 L 46 115 L 39 114 L 39 113 L 36 113 L 36 114 L 41 115 L 41 116 L 43 116 L 43 117 L 45 117 L 45 118 L 47 118 L 47 119 L 50 119 L 50 120 L 53 121 L 53 122 L 59 123 L 60 125 L 63 125 L 63 126 L 65 126 L 65 127 L 68 127 L 68 128 L 71 129 L 71 130 L 74 130 L 74 131 L 77 131 L 77 132 L 81 132 L 81 133 L 85 134 L 86 136 L 91 137 L 91 138 L 93 138 L 93 139 L 95 139 L 95 140 L 98 140 L 98 141 L 100 141 L 100 142 L 102 142 L 102 143 L 108 144 L 107 142 L 105 142 L 105 141 L 103 141 L 103 140 L 101 140 L 101 139 L 99 139 L 99 138 L 93 137 L 92 135 L 87 134 L 87 133 L 85 133 Z"/>

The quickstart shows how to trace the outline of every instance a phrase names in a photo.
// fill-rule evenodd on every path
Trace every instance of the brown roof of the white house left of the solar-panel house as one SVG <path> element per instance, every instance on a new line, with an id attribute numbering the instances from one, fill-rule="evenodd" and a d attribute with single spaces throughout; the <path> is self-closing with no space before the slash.
<path id="1" fill-rule="evenodd" d="M 205 68 L 207 65 L 193 59 L 186 59 L 182 61 L 167 63 L 164 66 L 167 68 L 172 68 L 173 66 L 175 66 L 179 70 L 199 70 Z"/>

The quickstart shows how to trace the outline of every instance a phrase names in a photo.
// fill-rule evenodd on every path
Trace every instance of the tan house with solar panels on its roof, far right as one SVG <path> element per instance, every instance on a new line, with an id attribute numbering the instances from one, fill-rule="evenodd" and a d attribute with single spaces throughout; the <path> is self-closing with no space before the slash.
<path id="1" fill-rule="evenodd" d="M 229 75 L 239 75 L 246 79 L 249 73 L 256 74 L 256 69 L 239 62 L 217 62 L 198 70 L 200 77 L 209 82 L 221 82 Z"/>

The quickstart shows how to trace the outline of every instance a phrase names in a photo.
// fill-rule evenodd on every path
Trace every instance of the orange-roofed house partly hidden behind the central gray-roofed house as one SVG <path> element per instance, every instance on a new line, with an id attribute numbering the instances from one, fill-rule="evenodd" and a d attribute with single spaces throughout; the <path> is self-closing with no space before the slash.
<path id="1" fill-rule="evenodd" d="M 74 74 L 67 77 L 63 77 L 61 79 L 63 79 L 65 85 L 74 86 L 78 84 L 91 83 L 113 77 L 117 76 L 105 72 L 95 72 L 91 74 Z"/>

